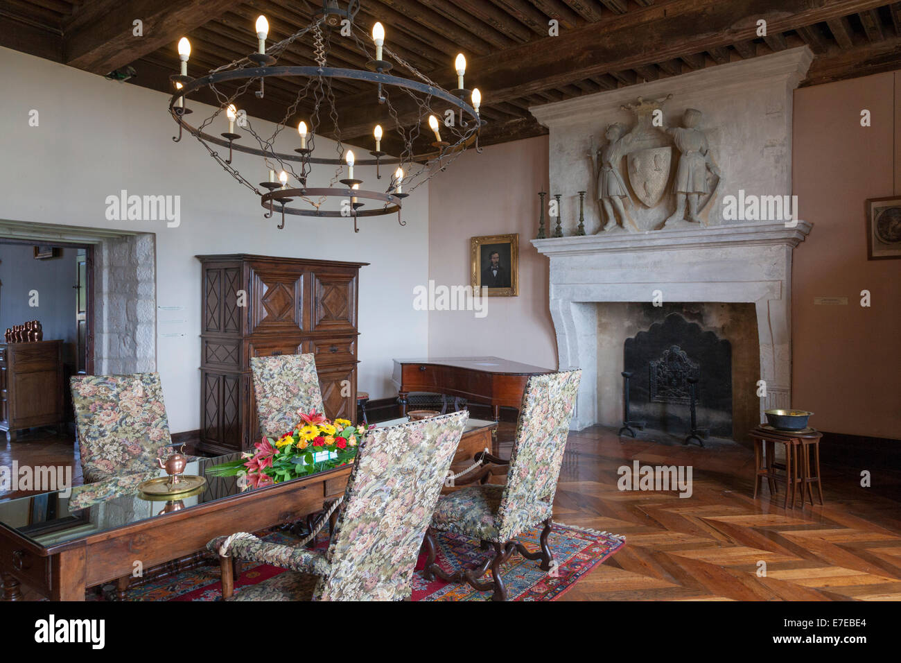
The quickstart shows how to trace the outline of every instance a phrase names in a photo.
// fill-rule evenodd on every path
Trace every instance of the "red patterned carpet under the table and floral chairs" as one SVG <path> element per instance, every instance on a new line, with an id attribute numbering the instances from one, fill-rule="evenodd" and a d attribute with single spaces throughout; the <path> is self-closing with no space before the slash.
<path id="1" fill-rule="evenodd" d="M 537 550 L 540 533 L 540 527 L 533 529 L 520 541 L 526 548 Z M 281 532 L 269 534 L 266 539 L 287 544 L 296 540 Z M 441 532 L 436 542 L 437 561 L 448 572 L 461 566 L 476 566 L 488 554 L 478 548 L 478 540 L 458 534 Z M 317 547 L 324 548 L 325 543 L 326 538 L 322 536 Z M 624 541 L 605 532 L 555 523 L 550 544 L 557 563 L 550 572 L 542 571 L 538 560 L 528 560 L 515 553 L 507 560 L 503 574 L 511 601 L 553 601 L 588 571 L 614 555 L 623 547 Z M 424 555 L 420 557 L 414 574 L 414 601 L 487 601 L 491 598 L 490 592 L 477 592 L 469 585 L 438 579 L 425 582 L 420 574 L 424 559 Z M 280 573 L 283 570 L 276 566 L 246 565 L 235 583 L 235 592 L 240 593 L 241 587 L 256 585 Z M 128 601 L 218 601 L 220 597 L 219 565 L 212 563 L 132 587 L 125 596 Z M 96 594 L 91 593 L 89 598 L 96 599 Z"/>

